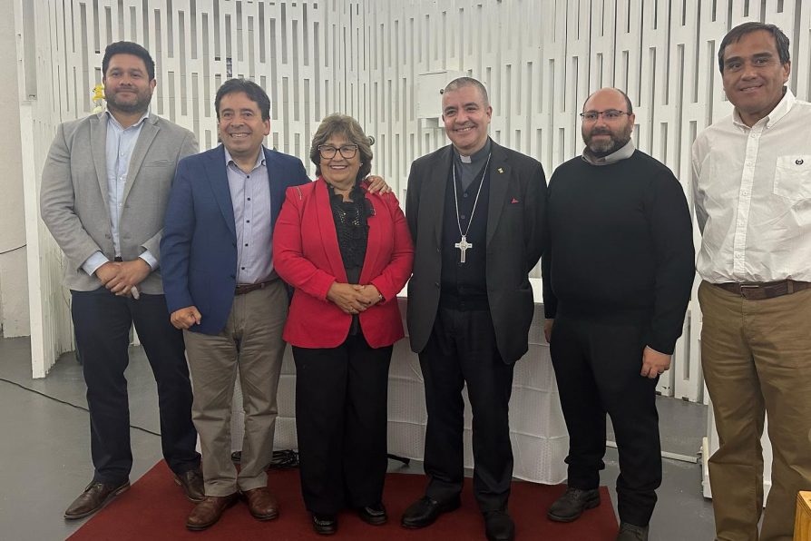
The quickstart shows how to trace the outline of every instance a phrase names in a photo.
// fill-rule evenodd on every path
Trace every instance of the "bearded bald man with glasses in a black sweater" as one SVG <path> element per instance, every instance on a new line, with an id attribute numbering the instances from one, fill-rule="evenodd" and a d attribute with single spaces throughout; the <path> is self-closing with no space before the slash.
<path id="1" fill-rule="evenodd" d="M 544 331 L 570 435 L 568 488 L 548 516 L 570 522 L 600 504 L 608 413 L 620 452 L 617 539 L 644 540 L 661 483 L 655 389 L 689 301 L 692 226 L 679 181 L 635 150 L 625 93 L 591 94 L 581 116 L 586 148 L 548 192 Z"/>

